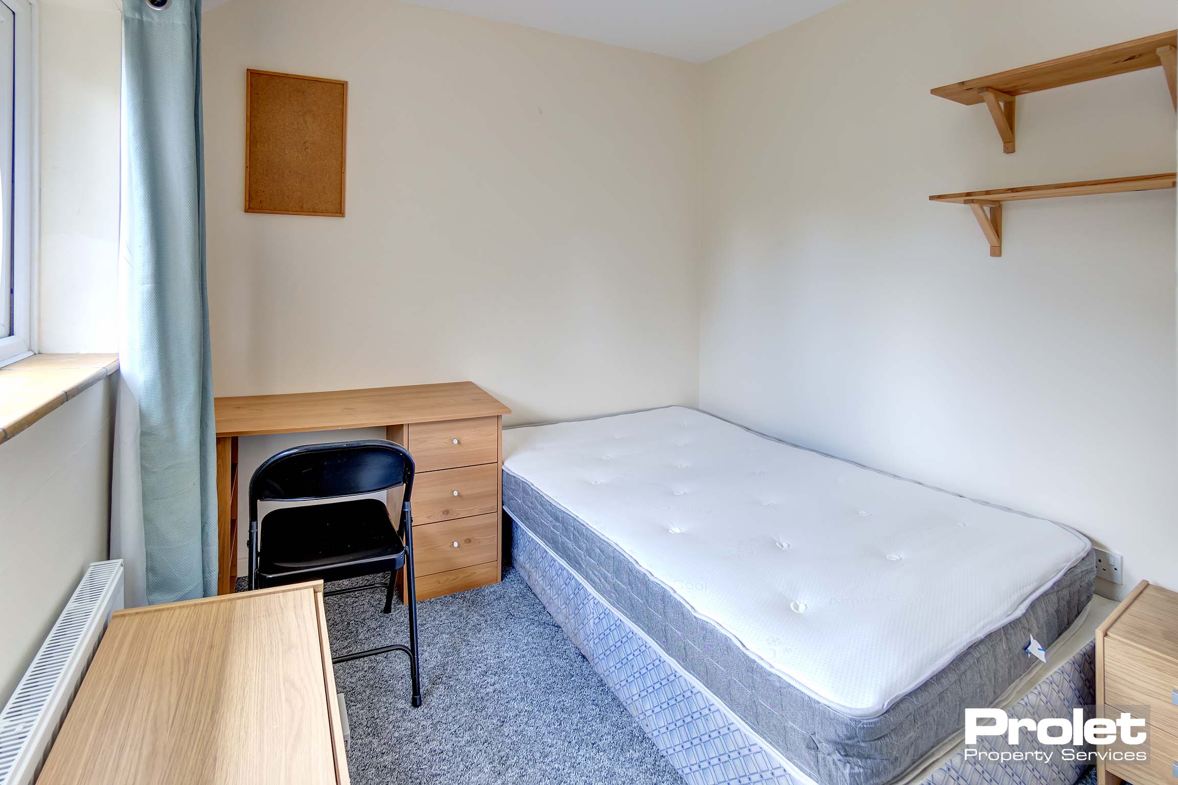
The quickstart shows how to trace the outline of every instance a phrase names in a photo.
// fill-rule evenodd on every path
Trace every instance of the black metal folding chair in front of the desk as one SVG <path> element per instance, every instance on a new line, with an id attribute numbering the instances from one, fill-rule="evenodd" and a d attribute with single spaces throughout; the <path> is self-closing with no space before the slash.
<path id="1" fill-rule="evenodd" d="M 283 507 L 266 514 L 266 534 L 258 543 L 259 501 L 311 501 L 405 487 L 401 523 L 377 499 Z M 332 663 L 401 651 L 409 654 L 413 706 L 422 705 L 417 659 L 417 593 L 413 588 L 413 526 L 409 497 L 413 459 L 392 441 L 366 439 L 305 445 L 266 459 L 250 479 L 250 588 L 303 580 L 343 580 L 388 572 L 389 583 L 325 591 L 345 594 L 384 588 L 384 612 L 392 612 L 392 583 L 405 568 L 409 645 L 395 644 L 332 658 Z"/>

